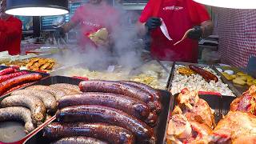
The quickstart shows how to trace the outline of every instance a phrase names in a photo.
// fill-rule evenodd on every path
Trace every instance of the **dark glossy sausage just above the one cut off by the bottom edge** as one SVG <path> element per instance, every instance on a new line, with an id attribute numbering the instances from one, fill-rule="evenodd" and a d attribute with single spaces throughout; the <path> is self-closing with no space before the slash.
<path id="1" fill-rule="evenodd" d="M 134 143 L 134 136 L 129 130 L 106 123 L 58 123 L 51 122 L 43 130 L 43 136 L 49 139 L 58 139 L 73 136 L 86 136 L 102 139 L 116 144 Z"/>

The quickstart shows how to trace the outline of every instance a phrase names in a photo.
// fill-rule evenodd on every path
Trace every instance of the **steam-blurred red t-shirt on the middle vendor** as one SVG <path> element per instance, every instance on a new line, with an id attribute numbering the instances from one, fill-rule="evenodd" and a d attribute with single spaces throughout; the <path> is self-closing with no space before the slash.
<path id="1" fill-rule="evenodd" d="M 79 46 L 81 46 L 83 50 L 86 50 L 86 47 L 95 47 L 94 42 L 86 35 L 100 28 L 106 28 L 111 32 L 114 26 L 118 25 L 118 17 L 117 10 L 107 4 L 101 4 L 99 6 L 85 4 L 78 7 L 74 16 L 71 18 L 71 22 L 79 23 Z"/>

